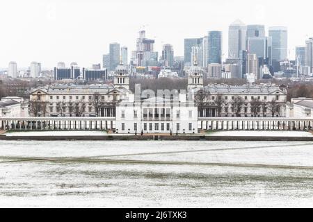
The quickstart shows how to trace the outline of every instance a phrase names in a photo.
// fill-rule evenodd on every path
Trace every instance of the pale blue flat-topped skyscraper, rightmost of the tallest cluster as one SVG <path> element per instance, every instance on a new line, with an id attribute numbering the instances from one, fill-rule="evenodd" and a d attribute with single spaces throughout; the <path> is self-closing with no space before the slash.
<path id="1" fill-rule="evenodd" d="M 272 60 L 282 61 L 288 57 L 287 27 L 269 27 L 268 36 L 272 37 Z"/>

